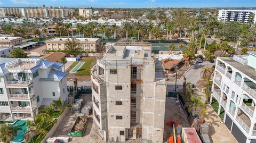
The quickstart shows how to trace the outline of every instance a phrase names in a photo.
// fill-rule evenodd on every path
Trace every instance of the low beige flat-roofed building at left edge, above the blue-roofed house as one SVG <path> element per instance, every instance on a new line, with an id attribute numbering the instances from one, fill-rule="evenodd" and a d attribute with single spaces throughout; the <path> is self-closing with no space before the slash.
<path id="1" fill-rule="evenodd" d="M 21 37 L 0 37 L 0 47 L 13 47 L 22 44 Z"/>

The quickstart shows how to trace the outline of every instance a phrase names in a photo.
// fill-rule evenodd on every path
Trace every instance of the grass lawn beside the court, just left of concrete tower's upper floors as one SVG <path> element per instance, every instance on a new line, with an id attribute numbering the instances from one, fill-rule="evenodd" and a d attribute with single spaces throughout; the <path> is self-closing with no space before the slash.
<path id="1" fill-rule="evenodd" d="M 90 75 L 91 74 L 91 64 L 95 63 L 95 58 L 94 57 L 85 57 L 82 60 L 85 62 L 82 67 L 77 70 L 76 75 L 81 76 L 81 75 Z"/>

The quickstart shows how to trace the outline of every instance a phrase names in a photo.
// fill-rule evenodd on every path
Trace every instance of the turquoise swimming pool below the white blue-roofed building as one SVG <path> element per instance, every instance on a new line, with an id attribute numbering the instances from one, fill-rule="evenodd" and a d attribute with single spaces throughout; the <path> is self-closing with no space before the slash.
<path id="1" fill-rule="evenodd" d="M 14 128 L 18 127 L 19 125 L 20 125 L 22 131 L 21 130 L 17 130 L 17 136 L 14 136 L 13 139 L 11 140 L 11 142 L 13 142 L 13 143 L 19 143 L 19 142 L 25 141 L 24 134 L 25 134 L 25 132 L 27 132 L 26 121 L 18 120 L 18 121 L 14 122 L 12 124 L 12 126 Z M 23 132 L 23 131 L 25 131 L 25 132 Z"/>

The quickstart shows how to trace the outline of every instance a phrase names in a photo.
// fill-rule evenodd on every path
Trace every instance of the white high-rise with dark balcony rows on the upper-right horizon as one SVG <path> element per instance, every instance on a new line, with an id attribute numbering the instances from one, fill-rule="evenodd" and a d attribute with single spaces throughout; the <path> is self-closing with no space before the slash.
<path id="1" fill-rule="evenodd" d="M 247 23 L 249 19 L 252 19 L 252 13 L 256 15 L 256 10 L 219 10 L 218 20 L 222 22 L 238 21 Z M 254 22 L 256 22 L 255 15 Z"/>

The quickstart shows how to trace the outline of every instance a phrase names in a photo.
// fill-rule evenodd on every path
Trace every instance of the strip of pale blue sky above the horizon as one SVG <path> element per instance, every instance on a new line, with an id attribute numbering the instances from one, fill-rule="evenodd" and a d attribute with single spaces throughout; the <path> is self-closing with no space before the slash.
<path id="1" fill-rule="evenodd" d="M 256 7 L 256 0 L 0 0 L 0 7 Z"/>

